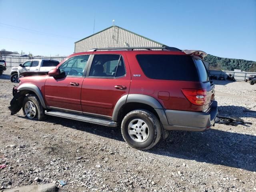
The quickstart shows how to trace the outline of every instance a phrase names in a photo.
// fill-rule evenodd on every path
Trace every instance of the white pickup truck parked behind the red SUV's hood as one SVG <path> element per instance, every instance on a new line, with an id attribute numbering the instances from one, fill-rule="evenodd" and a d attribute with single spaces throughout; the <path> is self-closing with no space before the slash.
<path id="1" fill-rule="evenodd" d="M 55 68 L 60 62 L 49 59 L 31 59 L 20 64 L 18 67 L 12 67 L 11 82 L 20 82 L 19 78 L 25 72 L 49 72 Z"/>

